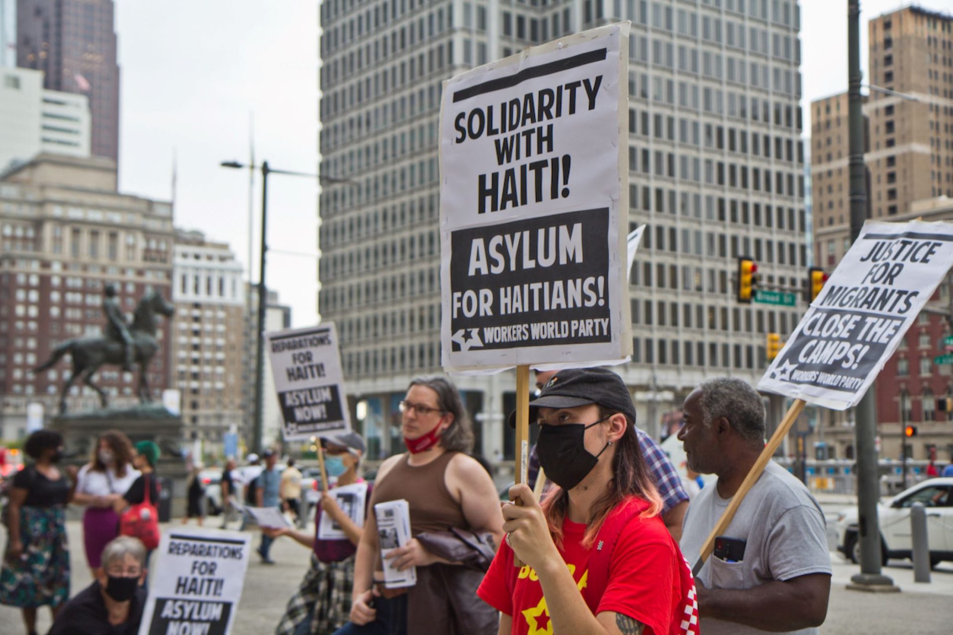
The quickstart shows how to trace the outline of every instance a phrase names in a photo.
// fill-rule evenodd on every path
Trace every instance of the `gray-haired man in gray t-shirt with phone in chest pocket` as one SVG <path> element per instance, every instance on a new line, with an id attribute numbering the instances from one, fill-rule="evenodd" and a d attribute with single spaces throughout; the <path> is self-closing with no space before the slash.
<path id="1" fill-rule="evenodd" d="M 689 468 L 719 477 L 685 515 L 679 546 L 694 566 L 764 447 L 764 406 L 754 388 L 723 378 L 696 388 L 682 412 Z M 827 614 L 830 552 L 821 507 L 801 481 L 769 463 L 721 536 L 736 539 L 741 551 L 713 553 L 701 567 L 701 632 L 817 633 Z"/>

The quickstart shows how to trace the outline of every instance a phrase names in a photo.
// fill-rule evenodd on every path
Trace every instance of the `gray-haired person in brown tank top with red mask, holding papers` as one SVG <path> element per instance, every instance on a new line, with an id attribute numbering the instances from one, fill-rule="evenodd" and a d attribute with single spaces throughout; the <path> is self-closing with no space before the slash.
<path id="1" fill-rule="evenodd" d="M 497 632 L 497 611 L 476 596 L 482 573 L 464 570 L 425 549 L 416 536 L 451 527 L 490 532 L 498 546 L 503 516 L 493 480 L 466 452 L 473 431 L 456 387 L 442 377 L 415 379 L 400 403 L 408 451 L 377 472 L 373 508 L 404 499 L 414 539 L 391 553 L 394 566 L 417 567 L 417 584 L 404 595 L 384 597 L 377 525 L 369 514 L 357 546 L 351 623 L 335 635 Z M 472 588 L 470 588 L 472 586 Z M 388 593 L 391 595 L 391 593 Z M 461 602 L 462 599 L 462 602 Z M 425 630 L 418 626 L 423 621 Z"/>

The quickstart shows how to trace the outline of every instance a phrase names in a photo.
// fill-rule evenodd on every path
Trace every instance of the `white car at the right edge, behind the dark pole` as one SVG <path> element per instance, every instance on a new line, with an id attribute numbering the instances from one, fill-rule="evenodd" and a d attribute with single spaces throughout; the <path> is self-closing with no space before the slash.
<path id="1" fill-rule="evenodd" d="M 923 481 L 903 490 L 887 503 L 878 504 L 884 563 L 887 558 L 912 557 L 910 507 L 917 502 L 926 507 L 930 566 L 936 566 L 943 560 L 953 560 L 953 477 L 946 477 Z M 834 528 L 838 551 L 844 557 L 860 563 L 857 515 L 857 507 L 842 510 Z"/>

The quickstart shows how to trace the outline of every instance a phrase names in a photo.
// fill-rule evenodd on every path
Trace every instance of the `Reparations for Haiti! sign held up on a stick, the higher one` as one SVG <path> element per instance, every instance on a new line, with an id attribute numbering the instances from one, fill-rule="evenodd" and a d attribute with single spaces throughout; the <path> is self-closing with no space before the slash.
<path id="1" fill-rule="evenodd" d="M 334 323 L 266 333 L 285 441 L 351 429 Z"/>

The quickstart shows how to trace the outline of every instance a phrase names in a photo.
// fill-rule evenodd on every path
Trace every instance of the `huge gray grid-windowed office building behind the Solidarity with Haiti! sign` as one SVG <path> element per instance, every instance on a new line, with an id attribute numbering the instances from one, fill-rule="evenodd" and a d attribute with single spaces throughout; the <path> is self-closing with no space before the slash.
<path id="1" fill-rule="evenodd" d="M 765 286 L 806 276 L 797 2 L 523 3 L 396 0 L 321 5 L 322 318 L 337 323 L 370 454 L 416 374 L 440 370 L 437 129 L 441 81 L 527 46 L 618 20 L 630 40 L 630 227 L 646 223 L 631 279 L 634 354 L 618 367 L 639 425 L 706 377 L 755 382 L 765 333 L 805 308 L 740 305 L 737 259 Z M 456 377 L 476 451 L 511 458 L 513 373 Z"/>

